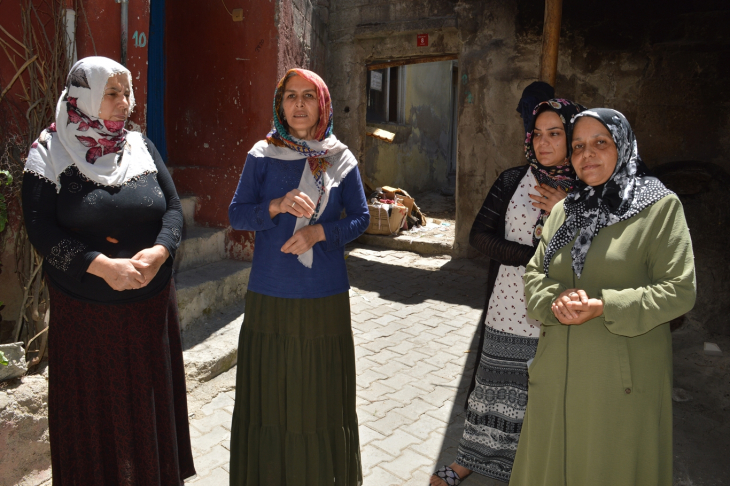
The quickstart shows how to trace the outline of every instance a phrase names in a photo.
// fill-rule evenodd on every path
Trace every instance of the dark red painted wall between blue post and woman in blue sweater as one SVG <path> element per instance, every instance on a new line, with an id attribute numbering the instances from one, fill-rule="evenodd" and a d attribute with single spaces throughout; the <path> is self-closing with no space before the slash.
<path id="1" fill-rule="evenodd" d="M 169 166 L 178 192 L 199 197 L 196 221 L 206 226 L 228 226 L 248 150 L 271 129 L 279 78 L 292 67 L 324 65 L 326 1 L 242 5 L 243 22 L 219 2 L 167 5 Z M 231 231 L 227 246 L 229 256 L 250 260 L 253 235 Z"/>

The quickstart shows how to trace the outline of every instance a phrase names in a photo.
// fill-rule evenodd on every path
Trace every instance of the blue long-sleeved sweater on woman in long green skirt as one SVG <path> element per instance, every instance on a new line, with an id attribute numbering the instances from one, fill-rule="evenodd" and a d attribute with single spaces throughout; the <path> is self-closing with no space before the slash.
<path id="1" fill-rule="evenodd" d="M 271 218 L 269 203 L 299 186 L 306 159 L 279 160 L 251 154 L 241 173 L 238 188 L 228 209 L 233 229 L 255 231 L 253 266 L 248 289 L 295 299 L 327 297 L 350 288 L 345 266 L 345 244 L 368 227 L 368 212 L 360 174 L 355 168 L 339 186 L 330 191 L 327 207 L 317 224 L 324 229 L 325 241 L 312 248 L 312 268 L 299 262 L 297 255 L 283 253 L 281 247 L 294 234 L 296 216 L 282 213 Z M 342 211 L 346 216 L 340 218 Z"/>

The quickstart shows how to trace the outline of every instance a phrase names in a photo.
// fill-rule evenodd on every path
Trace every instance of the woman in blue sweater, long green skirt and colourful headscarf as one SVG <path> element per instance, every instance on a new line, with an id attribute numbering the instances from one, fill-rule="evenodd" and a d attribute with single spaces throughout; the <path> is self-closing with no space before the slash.
<path id="1" fill-rule="evenodd" d="M 230 484 L 359 485 L 344 246 L 370 216 L 317 74 L 291 69 L 279 82 L 274 129 L 248 153 L 228 215 L 234 229 L 256 232 Z"/>

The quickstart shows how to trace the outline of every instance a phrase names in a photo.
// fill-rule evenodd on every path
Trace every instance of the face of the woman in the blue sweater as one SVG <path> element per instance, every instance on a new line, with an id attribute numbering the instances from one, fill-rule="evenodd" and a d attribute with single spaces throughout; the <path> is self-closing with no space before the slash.
<path id="1" fill-rule="evenodd" d="M 314 139 L 319 123 L 317 87 L 301 76 L 290 77 L 284 87 L 281 106 L 289 133 L 303 140 Z"/>

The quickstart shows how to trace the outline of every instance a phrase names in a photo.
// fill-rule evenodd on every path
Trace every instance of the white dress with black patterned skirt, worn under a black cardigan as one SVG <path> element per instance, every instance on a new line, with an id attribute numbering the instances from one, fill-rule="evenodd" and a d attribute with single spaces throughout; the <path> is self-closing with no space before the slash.
<path id="1" fill-rule="evenodd" d="M 537 194 L 526 171 L 512 195 L 504 219 L 504 239 L 532 244 L 540 210 L 528 194 Z M 535 356 L 540 323 L 527 317 L 525 267 L 502 264 L 489 298 L 476 383 L 469 395 L 464 435 L 456 463 L 479 474 L 509 481 L 527 407 L 527 361 Z"/>

